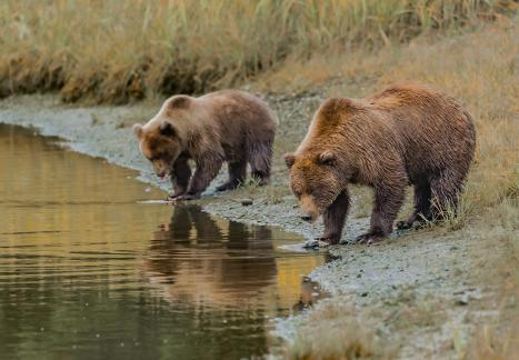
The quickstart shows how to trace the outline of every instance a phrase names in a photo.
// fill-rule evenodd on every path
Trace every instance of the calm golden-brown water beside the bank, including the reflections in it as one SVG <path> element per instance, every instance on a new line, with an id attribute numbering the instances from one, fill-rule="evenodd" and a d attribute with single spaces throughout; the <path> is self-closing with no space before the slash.
<path id="1" fill-rule="evenodd" d="M 262 354 L 275 317 L 312 301 L 321 256 L 229 222 L 136 173 L 0 124 L 0 358 Z"/>

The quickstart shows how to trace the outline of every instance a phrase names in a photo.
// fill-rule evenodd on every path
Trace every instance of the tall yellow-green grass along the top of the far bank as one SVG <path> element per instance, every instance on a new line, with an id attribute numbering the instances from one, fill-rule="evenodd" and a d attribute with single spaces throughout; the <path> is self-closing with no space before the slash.
<path id="1" fill-rule="evenodd" d="M 512 0 L 3 0 L 0 97 L 127 102 L 229 87 L 287 57 L 406 41 L 516 10 Z"/>

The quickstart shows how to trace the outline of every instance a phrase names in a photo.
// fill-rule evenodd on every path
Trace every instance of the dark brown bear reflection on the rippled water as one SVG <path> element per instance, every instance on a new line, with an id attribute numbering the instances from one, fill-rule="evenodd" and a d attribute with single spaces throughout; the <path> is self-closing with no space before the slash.
<path id="1" fill-rule="evenodd" d="M 177 206 L 171 221 L 153 233 L 147 274 L 174 303 L 291 308 L 301 302 L 299 273 L 318 263 L 315 257 L 277 251 L 272 238 L 267 227 L 216 220 L 198 206 Z"/>

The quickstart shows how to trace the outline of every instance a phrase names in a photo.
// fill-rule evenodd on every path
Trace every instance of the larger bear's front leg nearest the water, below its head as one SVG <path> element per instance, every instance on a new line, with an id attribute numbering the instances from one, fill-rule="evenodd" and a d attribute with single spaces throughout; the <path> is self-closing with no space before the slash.
<path id="1" fill-rule="evenodd" d="M 345 228 L 346 217 L 350 207 L 350 196 L 348 190 L 342 191 L 322 213 L 325 222 L 325 233 L 318 240 L 330 244 L 339 242 L 342 229 Z"/>

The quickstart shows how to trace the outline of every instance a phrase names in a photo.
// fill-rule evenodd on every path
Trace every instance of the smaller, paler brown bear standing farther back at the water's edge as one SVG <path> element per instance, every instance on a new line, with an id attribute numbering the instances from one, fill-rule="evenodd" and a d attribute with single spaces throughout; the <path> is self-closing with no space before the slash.
<path id="1" fill-rule="evenodd" d="M 270 178 L 276 122 L 267 103 L 237 90 L 200 98 L 174 96 L 144 126 L 134 124 L 142 154 L 158 176 L 170 176 L 172 199 L 198 198 L 228 162 L 229 180 L 217 190 L 246 180 L 247 164 L 260 184 Z M 188 161 L 196 163 L 191 178 Z"/>

